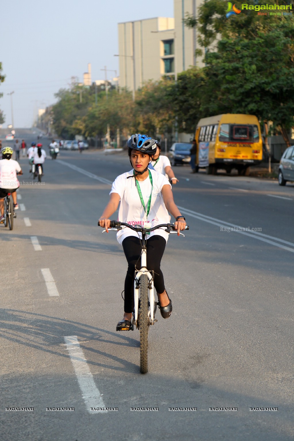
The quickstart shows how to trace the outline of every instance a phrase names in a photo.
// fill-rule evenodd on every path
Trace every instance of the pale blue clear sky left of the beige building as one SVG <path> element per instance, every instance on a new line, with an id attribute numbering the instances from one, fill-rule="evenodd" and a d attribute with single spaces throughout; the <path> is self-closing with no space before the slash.
<path id="1" fill-rule="evenodd" d="M 12 91 L 14 126 L 31 127 L 37 109 L 54 103 L 54 93 L 68 87 L 71 76 L 82 82 L 88 63 L 92 81 L 105 78 L 104 66 L 119 72 L 119 22 L 174 17 L 174 2 L 2 0 L 0 11 L 3 127 L 11 123 Z"/>

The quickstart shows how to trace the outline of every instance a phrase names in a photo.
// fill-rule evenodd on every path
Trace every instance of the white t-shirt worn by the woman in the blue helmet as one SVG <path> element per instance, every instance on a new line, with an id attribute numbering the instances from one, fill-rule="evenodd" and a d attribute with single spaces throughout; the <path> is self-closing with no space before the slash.
<path id="1" fill-rule="evenodd" d="M 161 175 L 155 170 L 150 170 L 150 172 L 153 180 L 153 191 L 148 219 L 142 206 L 134 177 L 127 179 L 128 176 L 134 176 L 133 169 L 130 170 L 130 172 L 119 175 L 115 179 L 114 183 L 112 184 L 111 192 L 109 194 L 119 194 L 119 221 L 126 222 L 132 225 L 137 224 L 142 226 L 145 225 L 146 222 L 148 222 L 150 227 L 155 227 L 159 224 L 169 223 L 169 215 L 164 205 L 164 199 L 161 193 L 161 189 L 164 185 L 169 185 L 171 187 L 171 184 L 168 182 L 165 176 Z M 140 185 L 145 208 L 147 210 L 148 200 L 152 190 L 149 176 L 144 181 L 137 181 L 137 185 L 138 182 Z M 141 238 L 141 233 L 137 233 L 130 228 L 123 227 L 122 230 L 119 230 L 117 232 L 116 237 L 121 245 L 123 243 L 123 239 L 125 239 L 126 237 L 138 237 L 138 235 L 140 235 Z M 147 236 L 147 239 L 149 239 L 153 235 L 160 235 L 164 237 L 166 241 L 168 239 L 168 233 L 164 231 L 164 228 L 160 228 L 151 232 L 150 235 Z"/>

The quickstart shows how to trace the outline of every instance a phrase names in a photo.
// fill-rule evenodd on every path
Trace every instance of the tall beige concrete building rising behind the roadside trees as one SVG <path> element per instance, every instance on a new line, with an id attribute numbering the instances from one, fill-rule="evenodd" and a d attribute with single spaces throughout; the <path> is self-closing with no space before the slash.
<path id="1" fill-rule="evenodd" d="M 175 75 L 190 66 L 202 67 L 195 57 L 197 35 L 182 19 L 197 15 L 201 0 L 174 0 L 175 18 L 157 17 L 119 23 L 119 86 L 133 92 L 145 81 Z"/>

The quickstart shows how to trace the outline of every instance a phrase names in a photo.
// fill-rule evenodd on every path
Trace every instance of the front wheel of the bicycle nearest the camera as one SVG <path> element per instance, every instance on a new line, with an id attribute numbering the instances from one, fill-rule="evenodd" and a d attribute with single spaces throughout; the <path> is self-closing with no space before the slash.
<path id="1" fill-rule="evenodd" d="M 148 277 L 142 274 L 140 277 L 140 372 L 147 374 L 148 372 Z"/>

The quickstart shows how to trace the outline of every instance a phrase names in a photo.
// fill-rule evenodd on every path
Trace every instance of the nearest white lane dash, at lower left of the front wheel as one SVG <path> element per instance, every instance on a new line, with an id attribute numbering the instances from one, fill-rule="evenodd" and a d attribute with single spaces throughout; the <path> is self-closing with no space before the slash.
<path id="1" fill-rule="evenodd" d="M 82 397 L 89 413 L 107 412 L 107 411 L 91 411 L 91 407 L 104 407 L 103 399 L 99 389 L 95 385 L 93 375 L 87 365 L 84 353 L 78 343 L 78 337 L 75 335 L 64 337 L 71 363 L 74 366 L 74 372 L 78 379 L 78 385 L 82 391 Z"/>

